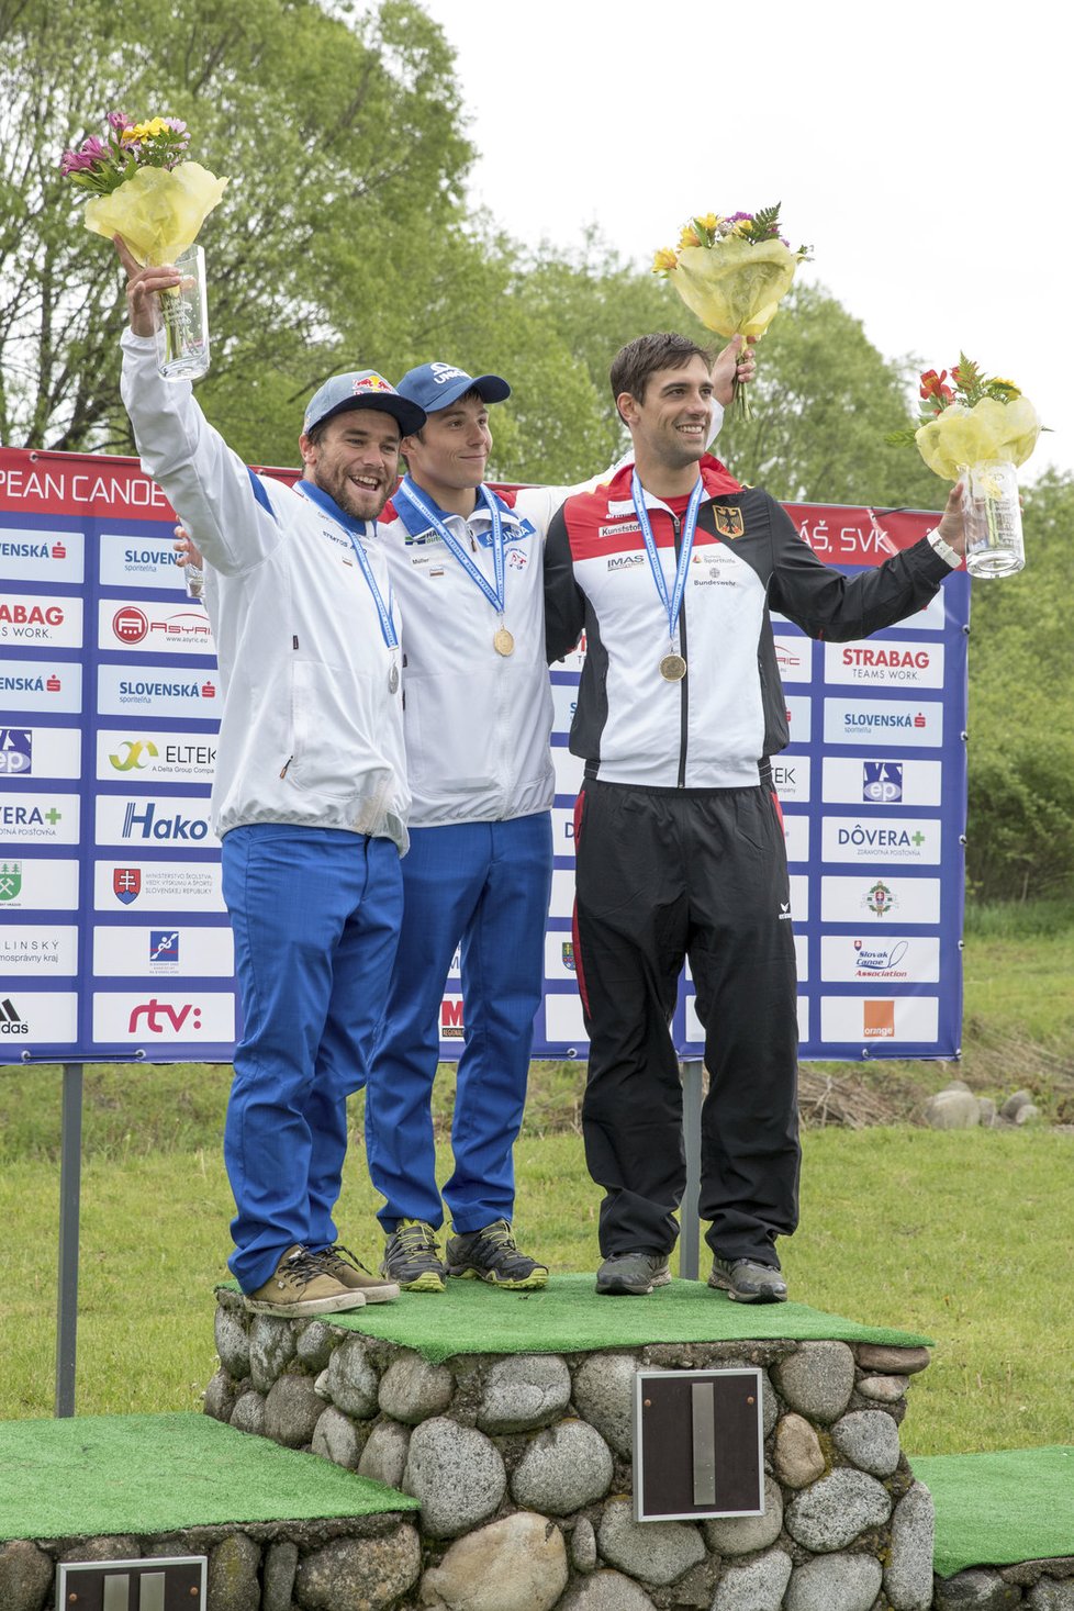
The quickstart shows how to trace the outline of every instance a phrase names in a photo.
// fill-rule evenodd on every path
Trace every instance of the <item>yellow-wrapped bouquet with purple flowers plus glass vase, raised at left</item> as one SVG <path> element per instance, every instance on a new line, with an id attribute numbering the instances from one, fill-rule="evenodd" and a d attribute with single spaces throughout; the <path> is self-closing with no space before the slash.
<path id="1" fill-rule="evenodd" d="M 161 374 L 196 379 L 209 367 L 204 319 L 204 256 L 198 230 L 227 179 L 187 161 L 190 134 L 180 118 L 135 122 L 108 114 L 108 135 L 90 135 L 64 151 L 60 172 L 90 195 L 84 224 L 111 240 L 122 235 L 138 263 L 174 263 L 182 285 L 161 293 Z"/>

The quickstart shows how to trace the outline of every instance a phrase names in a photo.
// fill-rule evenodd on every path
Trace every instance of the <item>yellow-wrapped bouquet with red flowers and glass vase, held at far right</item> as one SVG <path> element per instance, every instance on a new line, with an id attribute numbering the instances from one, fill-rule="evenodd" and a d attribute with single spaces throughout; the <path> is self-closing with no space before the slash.
<path id="1" fill-rule="evenodd" d="M 916 443 L 931 470 L 963 483 L 969 575 L 1014 575 L 1026 564 L 1014 470 L 1037 446 L 1037 411 L 1013 380 L 989 379 L 965 353 L 947 382 L 945 369 L 926 369 L 918 425 L 886 440 Z"/>

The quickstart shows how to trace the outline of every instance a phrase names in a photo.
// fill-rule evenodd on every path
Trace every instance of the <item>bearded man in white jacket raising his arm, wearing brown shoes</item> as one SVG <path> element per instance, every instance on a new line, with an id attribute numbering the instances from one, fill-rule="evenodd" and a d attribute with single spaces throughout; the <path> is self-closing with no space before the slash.
<path id="1" fill-rule="evenodd" d="M 142 464 L 209 561 L 224 714 L 213 786 L 243 1039 L 224 1155 L 230 1269 L 256 1313 L 333 1313 L 398 1286 L 337 1242 L 346 1097 L 366 1078 L 403 912 L 407 847 L 399 617 L 377 516 L 425 414 L 372 371 L 309 403 L 303 478 L 254 475 L 187 382 L 156 369 L 153 304 L 127 271 L 122 396 Z"/>

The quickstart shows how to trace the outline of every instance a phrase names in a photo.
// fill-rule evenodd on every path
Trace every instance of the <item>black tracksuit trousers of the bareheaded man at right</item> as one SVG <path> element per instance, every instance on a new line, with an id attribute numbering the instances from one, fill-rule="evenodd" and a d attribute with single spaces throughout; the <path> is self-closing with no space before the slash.
<path id="1" fill-rule="evenodd" d="M 670 1252 L 686 1184 L 670 1034 L 688 957 L 705 1028 L 700 1218 L 721 1258 L 779 1265 L 797 1224 L 797 1012 L 787 859 L 766 786 L 588 778 L 575 807 L 583 1134 L 601 1252 Z"/>

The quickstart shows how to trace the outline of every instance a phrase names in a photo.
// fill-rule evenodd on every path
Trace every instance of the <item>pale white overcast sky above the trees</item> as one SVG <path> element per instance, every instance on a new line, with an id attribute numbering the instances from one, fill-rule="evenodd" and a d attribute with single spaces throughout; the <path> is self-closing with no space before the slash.
<path id="1" fill-rule="evenodd" d="M 950 369 L 961 346 L 1053 430 L 1024 477 L 1074 472 L 1060 6 L 422 3 L 457 53 L 470 195 L 512 235 L 576 246 L 597 224 L 647 269 L 692 213 L 781 201 L 815 248 L 799 272 L 881 353 Z"/>

